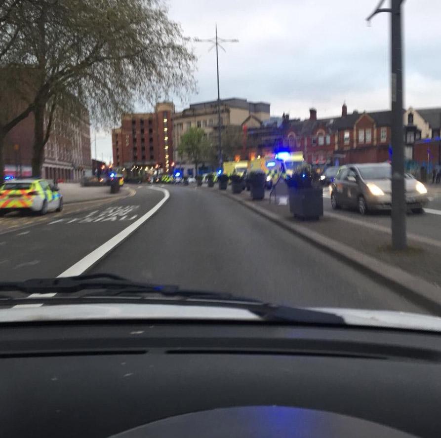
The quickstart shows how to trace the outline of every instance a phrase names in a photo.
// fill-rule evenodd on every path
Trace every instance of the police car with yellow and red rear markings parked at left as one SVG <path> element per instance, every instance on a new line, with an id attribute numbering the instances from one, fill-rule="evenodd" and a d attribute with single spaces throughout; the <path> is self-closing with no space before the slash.
<path id="1" fill-rule="evenodd" d="M 63 196 L 44 179 L 14 179 L 0 186 L 0 215 L 10 211 L 61 211 Z"/>

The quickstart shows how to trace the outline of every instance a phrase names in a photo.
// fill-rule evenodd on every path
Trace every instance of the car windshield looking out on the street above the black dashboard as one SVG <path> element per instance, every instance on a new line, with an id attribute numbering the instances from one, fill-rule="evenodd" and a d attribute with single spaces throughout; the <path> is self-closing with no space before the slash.
<path id="1" fill-rule="evenodd" d="M 0 283 L 438 315 L 441 2 L 205 3 L 0 1 Z"/>

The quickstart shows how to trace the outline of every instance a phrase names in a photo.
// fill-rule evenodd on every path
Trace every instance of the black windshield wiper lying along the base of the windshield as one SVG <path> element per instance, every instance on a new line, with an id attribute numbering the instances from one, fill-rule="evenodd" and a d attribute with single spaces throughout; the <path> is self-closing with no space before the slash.
<path id="1" fill-rule="evenodd" d="M 32 295 L 32 296 L 30 296 Z M 134 282 L 112 274 L 94 274 L 56 279 L 29 279 L 0 283 L 0 305 L 16 302 L 42 302 L 44 304 L 86 302 L 137 303 L 152 296 L 180 300 L 205 301 L 201 305 L 228 305 L 250 311 L 265 321 L 306 324 L 346 325 L 343 318 L 333 313 L 292 308 L 237 297 L 225 292 L 181 290 L 178 286 Z M 194 303 L 197 303 L 195 301 Z M 223 302 L 223 303 L 222 303 Z"/>

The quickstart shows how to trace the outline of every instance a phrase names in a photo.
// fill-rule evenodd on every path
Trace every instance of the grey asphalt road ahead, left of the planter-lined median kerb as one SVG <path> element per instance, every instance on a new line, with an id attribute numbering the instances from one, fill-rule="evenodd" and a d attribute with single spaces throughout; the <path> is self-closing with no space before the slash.
<path id="1" fill-rule="evenodd" d="M 216 188 L 135 186 L 134 192 L 5 232 L 0 277 L 113 273 L 291 306 L 428 312 Z"/>

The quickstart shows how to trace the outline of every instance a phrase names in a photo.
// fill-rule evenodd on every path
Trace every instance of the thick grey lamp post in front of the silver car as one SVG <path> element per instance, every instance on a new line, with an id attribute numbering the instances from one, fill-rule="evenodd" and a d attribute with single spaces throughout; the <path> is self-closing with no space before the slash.
<path id="1" fill-rule="evenodd" d="M 401 4 L 403 0 L 391 0 L 391 8 L 382 8 L 380 0 L 375 11 L 367 18 L 381 12 L 391 14 L 391 113 L 392 113 L 392 246 L 404 249 L 406 238 L 406 200 L 404 192 L 404 146 L 403 146 L 403 80 Z"/>

